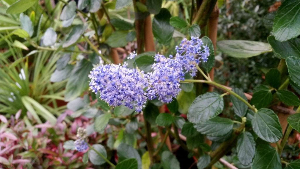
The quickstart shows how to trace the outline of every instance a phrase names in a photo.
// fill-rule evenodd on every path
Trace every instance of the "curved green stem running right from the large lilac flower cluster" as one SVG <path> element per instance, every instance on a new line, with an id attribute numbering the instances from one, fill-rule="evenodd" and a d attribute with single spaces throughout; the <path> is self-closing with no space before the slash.
<path id="1" fill-rule="evenodd" d="M 236 98 L 238 98 L 239 100 L 241 100 L 242 102 L 244 102 L 251 110 L 253 110 L 254 112 L 257 112 L 257 109 L 255 107 L 253 107 L 252 105 L 250 105 L 250 103 L 247 102 L 247 100 L 244 100 L 242 97 L 240 97 L 238 94 L 236 94 L 234 91 L 226 88 L 225 86 L 218 84 L 214 81 L 207 81 L 207 80 L 194 80 L 194 79 L 186 79 L 182 82 L 195 82 L 195 83 L 206 83 L 206 84 L 211 84 L 215 87 L 218 87 L 230 94 L 232 94 L 233 96 L 235 96 Z"/>

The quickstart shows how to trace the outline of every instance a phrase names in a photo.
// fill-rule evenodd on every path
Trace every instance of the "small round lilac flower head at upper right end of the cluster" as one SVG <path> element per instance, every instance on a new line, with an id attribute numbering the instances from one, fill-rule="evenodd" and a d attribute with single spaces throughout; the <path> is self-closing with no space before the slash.
<path id="1" fill-rule="evenodd" d="M 179 46 L 176 46 L 176 59 L 183 66 L 186 72 L 190 72 L 191 76 L 196 75 L 196 66 L 202 62 L 207 62 L 209 56 L 209 48 L 207 45 L 203 45 L 203 42 L 198 37 L 191 37 L 191 40 L 187 38 L 182 39 Z"/>

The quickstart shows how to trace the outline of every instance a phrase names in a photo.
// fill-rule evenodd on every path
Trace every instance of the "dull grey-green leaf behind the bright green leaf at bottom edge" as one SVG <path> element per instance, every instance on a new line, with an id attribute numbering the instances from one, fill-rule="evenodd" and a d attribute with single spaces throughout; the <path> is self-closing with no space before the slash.
<path id="1" fill-rule="evenodd" d="M 133 147 L 131 147 L 127 144 L 121 143 L 118 146 L 117 155 L 119 158 L 119 162 L 121 162 L 125 159 L 128 159 L 128 158 L 135 158 L 137 160 L 138 167 L 139 168 L 142 167 L 141 157 L 140 157 L 139 153 L 137 152 L 136 149 L 134 149 Z"/>

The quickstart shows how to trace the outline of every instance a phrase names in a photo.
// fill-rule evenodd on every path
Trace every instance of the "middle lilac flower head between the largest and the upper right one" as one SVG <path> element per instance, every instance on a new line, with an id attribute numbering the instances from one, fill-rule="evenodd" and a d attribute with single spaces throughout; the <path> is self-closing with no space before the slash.
<path id="1" fill-rule="evenodd" d="M 156 94 L 162 102 L 170 103 L 181 91 L 179 81 L 184 80 L 182 66 L 177 59 L 160 54 L 155 54 L 154 58 L 157 63 L 152 65 L 152 72 L 148 73 L 151 87 L 147 91 L 149 96 Z"/>

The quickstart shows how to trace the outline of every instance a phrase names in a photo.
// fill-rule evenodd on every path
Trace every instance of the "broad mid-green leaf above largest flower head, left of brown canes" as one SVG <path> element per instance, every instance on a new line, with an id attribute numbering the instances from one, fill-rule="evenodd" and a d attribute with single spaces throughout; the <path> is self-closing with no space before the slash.
<path id="1" fill-rule="evenodd" d="M 106 43 L 112 48 L 123 47 L 127 45 L 126 41 L 127 32 L 116 31 L 107 39 Z"/>

